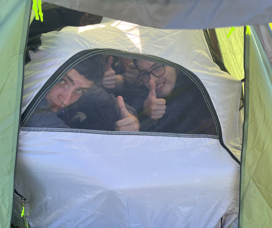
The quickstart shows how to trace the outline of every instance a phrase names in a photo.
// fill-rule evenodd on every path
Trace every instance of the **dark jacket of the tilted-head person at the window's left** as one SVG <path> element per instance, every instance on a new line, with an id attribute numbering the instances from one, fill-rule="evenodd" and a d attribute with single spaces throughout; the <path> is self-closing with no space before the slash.
<path id="1" fill-rule="evenodd" d="M 137 112 L 125 104 L 128 112 Z M 117 99 L 113 94 L 95 85 L 67 108 L 54 113 L 44 97 L 27 120 L 24 127 L 53 127 L 114 131 L 115 122 L 121 119 Z"/>

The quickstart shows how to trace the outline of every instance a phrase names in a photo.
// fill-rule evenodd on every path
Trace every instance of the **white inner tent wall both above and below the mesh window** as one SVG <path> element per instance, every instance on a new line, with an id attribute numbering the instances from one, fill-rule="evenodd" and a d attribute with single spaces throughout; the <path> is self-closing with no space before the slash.
<path id="1" fill-rule="evenodd" d="M 239 158 L 242 82 L 212 61 L 202 30 L 114 21 L 43 34 L 25 67 L 22 108 L 70 57 L 87 49 L 159 56 L 195 73 Z M 238 165 L 218 139 L 20 132 L 17 188 L 32 227 L 227 227 L 238 215 Z M 20 203 L 18 203 L 20 205 Z M 20 208 L 17 207 L 20 214 Z"/>

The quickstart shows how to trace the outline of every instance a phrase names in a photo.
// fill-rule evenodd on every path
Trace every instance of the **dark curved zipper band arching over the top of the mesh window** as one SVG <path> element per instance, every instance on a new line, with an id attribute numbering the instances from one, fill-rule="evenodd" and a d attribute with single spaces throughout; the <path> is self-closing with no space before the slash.
<path id="1" fill-rule="evenodd" d="M 213 103 L 211 101 L 211 98 L 208 94 L 208 92 L 206 91 L 206 88 L 204 87 L 203 83 L 201 82 L 201 80 L 190 70 L 187 70 L 186 68 L 172 63 L 170 61 L 164 60 L 160 57 L 155 57 L 155 56 L 149 56 L 147 54 L 140 54 L 140 53 L 132 53 L 132 52 L 128 52 L 128 51 L 120 51 L 120 50 L 115 50 L 115 49 L 91 49 L 91 50 L 84 50 L 84 51 L 80 51 L 79 53 L 75 54 L 74 56 L 72 56 L 70 59 L 68 59 L 65 63 L 63 63 L 63 65 L 61 65 L 61 67 L 58 68 L 58 70 L 49 78 L 48 82 L 46 82 L 44 84 L 44 86 L 42 87 L 42 89 L 40 89 L 40 91 L 37 93 L 37 95 L 35 96 L 35 98 L 31 101 L 31 103 L 29 104 L 29 106 L 26 108 L 25 112 L 22 115 L 22 126 L 25 124 L 25 122 L 27 121 L 28 117 L 31 115 L 31 110 L 33 110 L 34 105 L 39 102 L 39 99 L 42 99 L 42 97 L 47 93 L 47 89 L 50 85 L 52 85 L 52 83 L 57 79 L 57 77 L 59 77 L 61 75 L 61 73 L 66 73 L 68 71 L 68 68 L 71 68 L 71 65 L 75 65 L 77 63 L 77 60 L 80 59 L 80 57 L 84 56 L 86 57 L 87 55 L 95 55 L 95 54 L 109 54 L 109 55 L 114 55 L 116 53 L 119 53 L 119 56 L 123 56 L 123 57 L 129 57 L 131 58 L 132 56 L 141 56 L 141 59 L 147 60 L 147 61 L 156 61 L 158 63 L 167 63 L 169 66 L 175 67 L 175 68 L 181 68 L 184 71 L 186 71 L 195 81 L 197 81 L 197 83 L 200 85 L 202 91 L 205 94 L 205 99 L 209 104 L 209 107 L 211 108 L 212 113 L 214 114 L 214 122 L 216 123 L 217 126 L 217 137 L 219 139 L 219 142 L 221 144 L 221 146 L 228 152 L 228 154 L 231 156 L 231 158 L 233 158 L 233 160 L 235 160 L 239 165 L 240 165 L 240 161 L 235 157 L 235 155 L 229 150 L 229 148 L 224 144 L 223 142 L 223 136 L 222 136 L 222 129 L 221 129 L 221 125 L 218 119 L 218 116 L 216 114 L 216 110 L 213 106 Z M 121 53 L 121 55 L 120 55 Z M 89 56 L 88 56 L 89 57 Z M 86 57 L 87 58 L 87 57 Z M 69 69 L 70 69 L 69 68 Z M 42 96 L 43 95 L 43 96 Z"/>

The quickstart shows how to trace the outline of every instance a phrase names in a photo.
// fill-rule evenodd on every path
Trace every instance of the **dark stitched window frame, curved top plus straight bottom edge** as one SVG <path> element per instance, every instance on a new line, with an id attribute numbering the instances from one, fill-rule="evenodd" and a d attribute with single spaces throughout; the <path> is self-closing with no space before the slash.
<path id="1" fill-rule="evenodd" d="M 127 58 L 136 58 L 146 61 L 152 61 L 156 63 L 161 63 L 164 65 L 168 65 L 170 67 L 177 68 L 178 70 L 182 71 L 187 75 L 200 89 L 204 100 L 211 112 L 213 117 L 217 135 L 207 135 L 207 134 L 174 134 L 174 133 L 161 133 L 161 132 L 111 132 L 111 131 L 99 131 L 99 130 L 86 130 L 86 129 L 63 129 L 63 128 L 39 128 L 39 127 L 24 127 L 27 120 L 30 118 L 30 115 L 35 110 L 39 102 L 42 98 L 47 94 L 47 92 L 56 85 L 56 83 L 68 72 L 73 68 L 74 65 L 79 63 L 85 58 L 97 55 L 97 54 L 106 54 L 106 55 L 114 55 L 120 57 L 127 57 Z M 84 133 L 92 133 L 92 134 L 126 134 L 126 135 L 152 135 L 152 136 L 168 136 L 168 137 L 186 137 L 186 138 L 212 138 L 218 139 L 220 141 L 221 146 L 230 154 L 230 156 L 240 165 L 240 161 L 233 155 L 233 153 L 225 146 L 222 137 L 222 129 L 219 122 L 219 118 L 217 116 L 216 110 L 214 105 L 211 101 L 208 91 L 204 87 L 204 84 L 201 80 L 190 70 L 187 70 L 183 66 L 178 64 L 172 63 L 167 61 L 163 58 L 151 56 L 147 54 L 141 53 L 134 53 L 129 51 L 120 51 L 115 49 L 91 49 L 91 50 L 84 50 L 80 51 L 79 53 L 72 56 L 68 59 L 63 65 L 61 65 L 58 70 L 49 78 L 49 80 L 44 84 L 44 86 L 39 90 L 36 96 L 32 99 L 28 107 L 25 109 L 24 113 L 21 117 L 21 126 L 20 130 L 23 131 L 54 131 L 54 132 L 84 132 Z"/>

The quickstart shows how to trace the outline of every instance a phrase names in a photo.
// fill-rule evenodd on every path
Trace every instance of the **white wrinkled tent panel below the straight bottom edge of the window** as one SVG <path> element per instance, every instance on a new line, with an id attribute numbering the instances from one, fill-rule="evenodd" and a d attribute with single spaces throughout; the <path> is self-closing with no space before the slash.
<path id="1" fill-rule="evenodd" d="M 31 227 L 219 228 L 238 213 L 239 165 L 217 139 L 21 131 L 16 182 Z"/>

